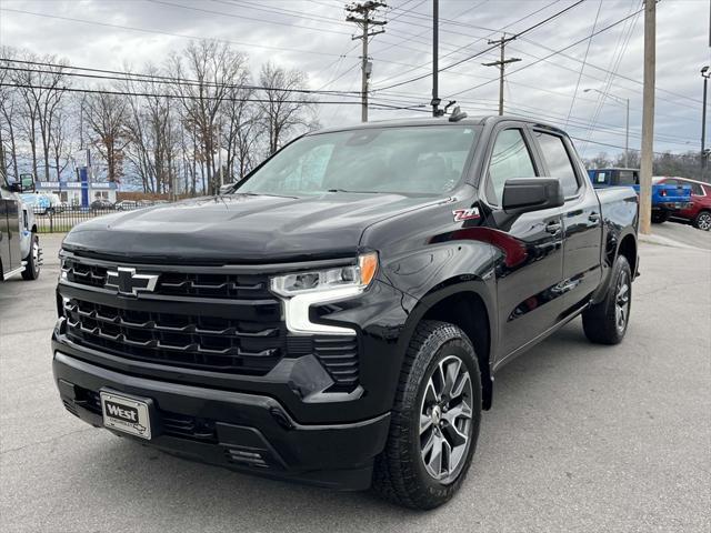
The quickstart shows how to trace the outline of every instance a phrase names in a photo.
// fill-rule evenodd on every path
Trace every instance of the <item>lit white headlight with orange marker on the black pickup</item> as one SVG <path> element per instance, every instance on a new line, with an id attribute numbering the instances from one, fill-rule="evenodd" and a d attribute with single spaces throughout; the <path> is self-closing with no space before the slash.
<path id="1" fill-rule="evenodd" d="M 284 318 L 290 332 L 354 335 L 356 331 L 350 328 L 311 322 L 309 309 L 357 296 L 372 282 L 377 271 L 378 254 L 364 253 L 359 255 L 358 264 L 272 278 L 271 290 L 284 299 Z"/>

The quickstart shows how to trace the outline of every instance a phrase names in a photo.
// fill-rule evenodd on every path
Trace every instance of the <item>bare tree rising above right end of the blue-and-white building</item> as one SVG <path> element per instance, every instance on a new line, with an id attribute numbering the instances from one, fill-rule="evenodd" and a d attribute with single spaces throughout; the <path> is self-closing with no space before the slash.
<path id="1" fill-rule="evenodd" d="M 120 181 L 123 149 L 130 140 L 128 102 L 120 94 L 99 92 L 87 97 L 84 115 L 92 142 L 107 164 L 109 181 Z"/>

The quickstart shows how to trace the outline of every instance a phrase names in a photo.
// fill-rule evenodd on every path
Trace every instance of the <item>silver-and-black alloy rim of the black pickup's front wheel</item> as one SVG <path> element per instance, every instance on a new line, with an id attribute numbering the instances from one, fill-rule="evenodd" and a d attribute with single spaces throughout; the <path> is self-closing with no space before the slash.
<path id="1" fill-rule="evenodd" d="M 457 355 L 443 358 L 427 382 L 420 405 L 420 459 L 427 473 L 448 483 L 462 470 L 470 445 L 472 385 Z"/>

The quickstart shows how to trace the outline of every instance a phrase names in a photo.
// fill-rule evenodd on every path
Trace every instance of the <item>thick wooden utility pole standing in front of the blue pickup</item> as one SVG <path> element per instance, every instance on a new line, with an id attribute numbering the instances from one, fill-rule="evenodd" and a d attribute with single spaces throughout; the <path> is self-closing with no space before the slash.
<path id="1" fill-rule="evenodd" d="M 657 0 L 644 0 L 644 87 L 642 90 L 642 154 L 640 163 L 640 232 L 651 233 L 652 165 L 654 163 L 654 82 Z"/>

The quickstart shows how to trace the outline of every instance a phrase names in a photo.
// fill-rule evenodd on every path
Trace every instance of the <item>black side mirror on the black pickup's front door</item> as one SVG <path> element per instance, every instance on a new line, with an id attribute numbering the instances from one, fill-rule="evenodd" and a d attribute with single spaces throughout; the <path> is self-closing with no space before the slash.
<path id="1" fill-rule="evenodd" d="M 522 213 L 560 208 L 565 203 L 565 198 L 555 178 L 520 178 L 507 180 L 502 203 L 507 213 Z"/>

